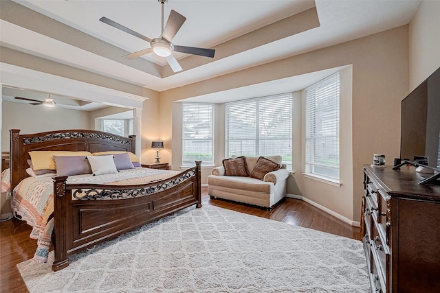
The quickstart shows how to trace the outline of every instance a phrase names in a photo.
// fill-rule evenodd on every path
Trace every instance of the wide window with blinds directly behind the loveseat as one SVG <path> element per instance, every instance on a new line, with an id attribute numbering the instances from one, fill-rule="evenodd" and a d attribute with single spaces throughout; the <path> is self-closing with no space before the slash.
<path id="1" fill-rule="evenodd" d="M 226 104 L 226 156 L 281 155 L 292 169 L 292 93 Z"/>

